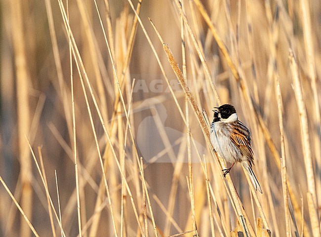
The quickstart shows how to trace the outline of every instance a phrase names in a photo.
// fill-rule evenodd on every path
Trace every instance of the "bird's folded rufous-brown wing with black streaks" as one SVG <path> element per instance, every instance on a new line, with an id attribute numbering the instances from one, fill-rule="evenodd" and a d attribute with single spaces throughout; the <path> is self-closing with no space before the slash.
<path id="1" fill-rule="evenodd" d="M 233 129 L 230 130 L 231 141 L 239 148 L 241 154 L 248 159 L 250 166 L 252 166 L 254 155 L 251 148 L 250 131 L 241 122 L 232 127 Z"/>

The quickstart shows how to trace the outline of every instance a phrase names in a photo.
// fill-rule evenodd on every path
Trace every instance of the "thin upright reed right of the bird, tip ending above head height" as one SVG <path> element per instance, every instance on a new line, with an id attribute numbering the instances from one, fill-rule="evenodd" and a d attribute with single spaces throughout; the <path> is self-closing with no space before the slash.
<path id="1" fill-rule="evenodd" d="M 285 213 L 285 226 L 286 226 L 286 236 L 291 236 L 291 226 L 290 226 L 290 215 L 288 208 L 288 193 L 286 186 L 286 156 L 285 156 L 285 144 L 284 144 L 284 127 L 283 127 L 283 109 L 282 109 L 282 96 L 280 87 L 280 78 L 276 78 L 277 82 L 277 99 L 278 99 L 278 111 L 279 111 L 279 127 L 280 127 L 280 138 L 281 138 L 281 178 L 282 178 L 282 190 L 283 190 L 283 203 L 284 203 L 284 213 Z"/>

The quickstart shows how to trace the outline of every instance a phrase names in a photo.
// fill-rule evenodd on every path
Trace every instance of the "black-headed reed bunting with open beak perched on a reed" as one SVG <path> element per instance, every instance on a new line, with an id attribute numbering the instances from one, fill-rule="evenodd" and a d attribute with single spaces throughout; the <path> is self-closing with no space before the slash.
<path id="1" fill-rule="evenodd" d="M 214 119 L 211 123 L 211 143 L 214 150 L 232 163 L 228 169 L 223 169 L 224 177 L 230 172 L 236 162 L 241 162 L 247 171 L 255 190 L 262 193 L 261 186 L 252 170 L 254 154 L 251 148 L 251 133 L 238 119 L 233 105 L 225 104 L 214 107 Z"/>

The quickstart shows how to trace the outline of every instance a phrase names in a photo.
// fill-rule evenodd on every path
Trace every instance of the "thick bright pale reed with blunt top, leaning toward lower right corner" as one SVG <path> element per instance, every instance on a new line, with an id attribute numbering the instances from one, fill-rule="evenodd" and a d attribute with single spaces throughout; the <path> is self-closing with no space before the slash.
<path id="1" fill-rule="evenodd" d="M 314 169 L 310 148 L 310 138 L 309 138 L 309 128 L 308 128 L 308 119 L 306 106 L 303 98 L 303 88 L 301 85 L 301 80 L 299 78 L 299 69 L 293 54 L 293 51 L 289 49 L 289 61 L 290 68 L 293 79 L 294 93 L 297 102 L 299 118 L 300 118 L 300 130 L 301 130 L 301 143 L 303 147 L 303 157 L 306 168 L 307 182 L 308 182 L 308 190 L 311 193 L 313 202 L 308 202 L 309 210 L 315 209 L 315 212 L 318 213 L 318 199 L 316 195 L 316 185 L 315 185 L 315 177 L 314 177 Z M 311 206 L 312 205 L 312 206 Z M 311 213 L 311 212 L 310 212 Z M 317 218 L 317 220 L 315 220 Z M 313 236 L 320 237 L 320 225 L 319 225 L 319 217 L 317 215 L 310 215 L 311 224 L 314 225 L 318 223 L 318 225 L 312 226 Z"/>

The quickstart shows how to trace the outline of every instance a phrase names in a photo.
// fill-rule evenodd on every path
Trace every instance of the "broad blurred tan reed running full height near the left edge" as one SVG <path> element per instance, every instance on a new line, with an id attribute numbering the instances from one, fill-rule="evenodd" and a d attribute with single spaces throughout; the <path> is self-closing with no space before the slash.
<path id="1" fill-rule="evenodd" d="M 16 97 L 17 97 L 17 124 L 18 124 L 18 148 L 20 158 L 20 175 L 22 182 L 21 206 L 26 215 L 32 217 L 33 190 L 30 183 L 32 173 L 31 158 L 28 154 L 28 147 L 24 142 L 24 136 L 29 134 L 30 129 L 30 105 L 29 105 L 29 87 L 31 78 L 27 67 L 26 41 L 24 33 L 22 2 L 12 0 L 11 2 L 11 31 L 14 49 L 14 60 L 16 70 Z M 25 237 L 30 237 L 31 232 L 26 222 L 21 221 L 21 233 Z"/>

